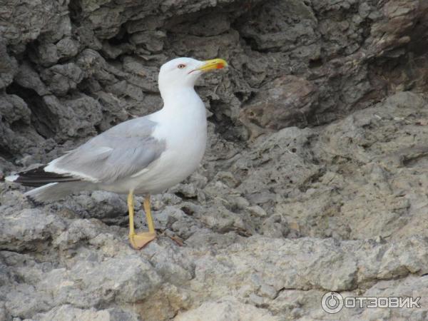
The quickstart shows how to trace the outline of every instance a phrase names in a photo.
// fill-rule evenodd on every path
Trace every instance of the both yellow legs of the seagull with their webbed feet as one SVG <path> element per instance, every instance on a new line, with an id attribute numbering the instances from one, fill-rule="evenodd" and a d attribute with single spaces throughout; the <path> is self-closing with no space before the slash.
<path id="1" fill-rule="evenodd" d="M 148 232 L 136 234 L 133 223 L 133 190 L 130 190 L 128 194 L 129 241 L 131 242 L 132 247 L 137 250 L 143 248 L 144 245 L 156 238 L 155 225 L 153 224 L 150 209 L 150 195 L 146 196 L 144 199 L 144 210 L 146 211 Z"/>

